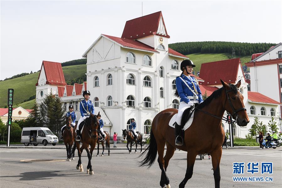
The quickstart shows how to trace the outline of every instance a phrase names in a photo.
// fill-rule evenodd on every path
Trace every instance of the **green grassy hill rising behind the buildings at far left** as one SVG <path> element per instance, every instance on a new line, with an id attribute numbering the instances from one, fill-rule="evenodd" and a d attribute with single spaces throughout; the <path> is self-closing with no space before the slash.
<path id="1" fill-rule="evenodd" d="M 65 80 L 69 81 L 74 78 L 78 78 L 86 73 L 86 65 L 71 65 L 62 67 Z M 14 78 L 11 80 L 5 80 L 0 82 L 0 107 L 4 107 L 7 105 L 7 95 L 8 95 L 8 88 L 14 89 L 14 98 L 13 98 L 13 106 L 17 106 L 18 104 L 22 103 L 24 100 L 28 99 L 29 97 L 35 94 L 35 84 L 37 82 L 39 76 L 39 72 Z M 27 108 L 32 107 L 29 106 L 31 103 L 25 102 L 24 105 Z"/>

